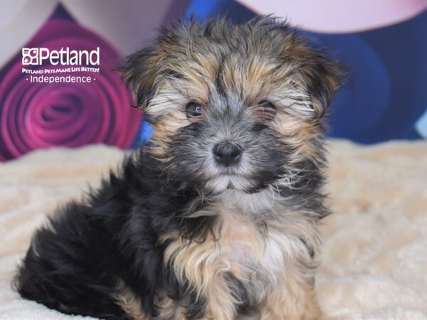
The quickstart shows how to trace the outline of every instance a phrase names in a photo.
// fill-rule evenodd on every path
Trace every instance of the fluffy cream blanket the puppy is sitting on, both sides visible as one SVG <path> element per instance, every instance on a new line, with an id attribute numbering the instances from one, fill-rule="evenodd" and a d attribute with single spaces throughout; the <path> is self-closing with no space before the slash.
<path id="1" fill-rule="evenodd" d="M 0 165 L 0 319 L 88 319 L 11 289 L 31 233 L 122 158 L 107 146 L 36 151 Z M 330 144 L 317 295 L 333 319 L 427 319 L 427 142 Z M 274 319 L 272 319 L 274 320 Z"/>

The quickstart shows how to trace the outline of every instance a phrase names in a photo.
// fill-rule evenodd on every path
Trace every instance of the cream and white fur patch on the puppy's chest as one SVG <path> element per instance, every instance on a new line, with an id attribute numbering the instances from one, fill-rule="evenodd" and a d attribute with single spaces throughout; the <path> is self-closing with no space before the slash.
<path id="1" fill-rule="evenodd" d="M 219 202 L 212 206 L 218 219 L 213 232 L 204 241 L 179 239 L 169 245 L 167 257 L 173 257 L 177 274 L 193 282 L 204 277 L 231 277 L 241 284 L 273 282 L 285 265 L 287 235 L 277 228 L 271 208 L 247 208 Z M 268 219 L 263 219 L 269 216 Z M 274 222 L 274 228 L 270 228 Z"/>

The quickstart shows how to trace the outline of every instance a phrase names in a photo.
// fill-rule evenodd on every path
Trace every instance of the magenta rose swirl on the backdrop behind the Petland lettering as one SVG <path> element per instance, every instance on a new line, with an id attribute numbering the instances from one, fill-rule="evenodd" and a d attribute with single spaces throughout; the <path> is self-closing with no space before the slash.
<path id="1" fill-rule="evenodd" d="M 21 72 L 21 53 L 17 54 L 0 73 L 0 160 L 51 146 L 132 144 L 142 117 L 130 107 L 130 92 L 115 71 L 120 55 L 110 43 L 75 21 L 53 16 L 26 47 L 89 51 L 100 47 L 100 73 L 53 74 L 91 76 L 90 83 L 31 83 L 30 75 Z M 25 68 L 66 66 L 45 63 Z"/>

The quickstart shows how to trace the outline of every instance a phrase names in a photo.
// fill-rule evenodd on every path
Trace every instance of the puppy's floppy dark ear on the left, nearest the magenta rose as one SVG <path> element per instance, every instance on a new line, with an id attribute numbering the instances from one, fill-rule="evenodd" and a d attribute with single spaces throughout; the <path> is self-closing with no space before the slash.
<path id="1" fill-rule="evenodd" d="M 162 54 L 156 48 L 144 48 L 127 57 L 120 68 L 126 84 L 132 88 L 137 105 L 145 110 L 159 84 Z"/>

